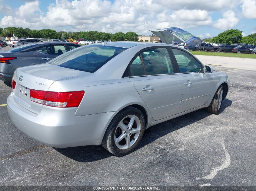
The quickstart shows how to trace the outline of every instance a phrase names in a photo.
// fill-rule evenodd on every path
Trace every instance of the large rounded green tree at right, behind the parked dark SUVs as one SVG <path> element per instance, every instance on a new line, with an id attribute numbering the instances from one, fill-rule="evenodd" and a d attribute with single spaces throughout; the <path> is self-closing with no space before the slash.
<path id="1" fill-rule="evenodd" d="M 240 43 L 242 40 L 242 32 L 237 29 L 230 29 L 220 33 L 217 37 L 213 37 L 210 43 Z"/>

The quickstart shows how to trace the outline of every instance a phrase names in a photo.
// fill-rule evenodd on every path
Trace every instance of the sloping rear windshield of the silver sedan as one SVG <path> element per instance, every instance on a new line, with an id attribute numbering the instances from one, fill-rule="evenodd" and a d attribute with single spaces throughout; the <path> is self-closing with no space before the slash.
<path id="1" fill-rule="evenodd" d="M 88 45 L 68 51 L 48 64 L 93 73 L 124 50 L 126 48 L 116 46 Z"/>

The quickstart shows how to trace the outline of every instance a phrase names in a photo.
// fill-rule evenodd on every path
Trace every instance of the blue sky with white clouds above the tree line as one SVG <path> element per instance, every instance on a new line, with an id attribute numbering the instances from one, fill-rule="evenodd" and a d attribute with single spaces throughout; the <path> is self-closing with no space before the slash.
<path id="1" fill-rule="evenodd" d="M 179 27 L 201 39 L 256 33 L 256 0 L 0 0 L 0 27 L 128 32 Z"/>

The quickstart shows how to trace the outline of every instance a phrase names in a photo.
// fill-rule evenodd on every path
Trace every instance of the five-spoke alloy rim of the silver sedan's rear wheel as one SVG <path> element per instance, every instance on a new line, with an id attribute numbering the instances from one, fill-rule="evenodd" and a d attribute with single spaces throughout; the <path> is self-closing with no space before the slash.
<path id="1" fill-rule="evenodd" d="M 115 129 L 114 141 L 119 149 L 128 149 L 137 141 L 141 132 L 140 119 L 135 115 L 124 117 Z"/>

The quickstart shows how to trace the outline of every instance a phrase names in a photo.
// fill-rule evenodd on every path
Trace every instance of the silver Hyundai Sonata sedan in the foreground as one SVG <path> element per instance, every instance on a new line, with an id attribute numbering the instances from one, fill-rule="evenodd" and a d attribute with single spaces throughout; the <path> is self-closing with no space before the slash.
<path id="1" fill-rule="evenodd" d="M 204 107 L 218 114 L 228 87 L 228 75 L 184 48 L 96 43 L 17 68 L 7 107 L 15 126 L 46 145 L 102 144 L 122 156 L 150 126 Z"/>

